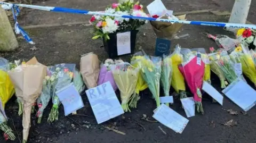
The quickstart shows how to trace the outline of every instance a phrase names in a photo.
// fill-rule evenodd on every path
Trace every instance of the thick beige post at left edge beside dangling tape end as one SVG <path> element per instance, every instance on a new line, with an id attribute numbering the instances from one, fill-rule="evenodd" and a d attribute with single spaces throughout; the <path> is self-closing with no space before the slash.
<path id="1" fill-rule="evenodd" d="M 18 47 L 11 23 L 0 5 L 0 51 L 14 51 Z"/>

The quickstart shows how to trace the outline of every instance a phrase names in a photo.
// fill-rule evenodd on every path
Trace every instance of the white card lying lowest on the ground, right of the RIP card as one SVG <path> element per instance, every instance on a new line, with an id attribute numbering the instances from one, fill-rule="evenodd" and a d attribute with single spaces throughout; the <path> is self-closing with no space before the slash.
<path id="1" fill-rule="evenodd" d="M 177 133 L 182 133 L 188 124 L 188 119 L 181 116 L 165 104 L 162 104 L 153 115 L 154 119 Z"/>

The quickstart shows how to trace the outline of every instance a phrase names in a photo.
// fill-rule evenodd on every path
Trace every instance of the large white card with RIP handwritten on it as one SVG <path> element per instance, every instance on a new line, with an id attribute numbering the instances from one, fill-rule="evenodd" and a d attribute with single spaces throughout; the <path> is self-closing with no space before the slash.
<path id="1" fill-rule="evenodd" d="M 124 113 L 109 81 L 86 90 L 86 95 L 98 124 Z"/>

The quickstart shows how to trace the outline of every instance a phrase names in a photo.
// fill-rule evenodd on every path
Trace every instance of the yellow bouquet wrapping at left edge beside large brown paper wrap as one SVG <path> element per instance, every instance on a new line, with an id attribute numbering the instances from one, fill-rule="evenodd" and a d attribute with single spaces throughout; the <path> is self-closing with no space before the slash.
<path id="1" fill-rule="evenodd" d="M 15 90 L 7 72 L 0 70 L 0 99 L 3 108 L 7 101 L 13 96 Z"/>

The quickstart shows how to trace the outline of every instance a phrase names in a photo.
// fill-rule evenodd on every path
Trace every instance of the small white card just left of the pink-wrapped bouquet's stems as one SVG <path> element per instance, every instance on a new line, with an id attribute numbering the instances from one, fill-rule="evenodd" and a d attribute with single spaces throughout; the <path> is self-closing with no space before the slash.
<path id="1" fill-rule="evenodd" d="M 187 117 L 195 116 L 196 104 L 193 97 L 180 99 Z"/>

